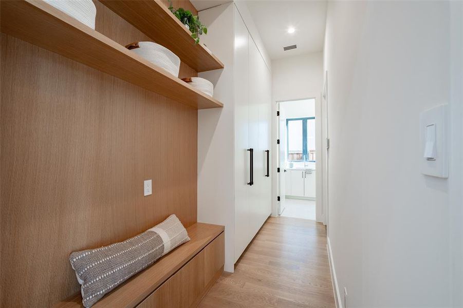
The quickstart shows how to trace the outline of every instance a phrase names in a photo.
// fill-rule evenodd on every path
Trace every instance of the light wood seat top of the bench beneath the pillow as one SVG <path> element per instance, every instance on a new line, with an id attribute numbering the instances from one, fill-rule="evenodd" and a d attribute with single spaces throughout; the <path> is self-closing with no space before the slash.
<path id="1" fill-rule="evenodd" d="M 195 223 L 187 228 L 190 241 L 181 244 L 168 255 L 106 294 L 93 307 L 135 307 L 183 265 L 187 264 L 202 248 L 206 247 L 225 227 L 207 223 Z M 77 294 L 54 305 L 54 308 L 81 308 L 82 296 Z"/>

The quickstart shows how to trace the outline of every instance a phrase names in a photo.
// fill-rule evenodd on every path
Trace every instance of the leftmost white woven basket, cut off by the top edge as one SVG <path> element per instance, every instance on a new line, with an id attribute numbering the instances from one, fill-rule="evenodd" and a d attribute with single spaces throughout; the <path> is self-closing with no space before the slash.
<path id="1" fill-rule="evenodd" d="M 91 0 L 44 0 L 49 5 L 95 30 L 97 8 Z"/>

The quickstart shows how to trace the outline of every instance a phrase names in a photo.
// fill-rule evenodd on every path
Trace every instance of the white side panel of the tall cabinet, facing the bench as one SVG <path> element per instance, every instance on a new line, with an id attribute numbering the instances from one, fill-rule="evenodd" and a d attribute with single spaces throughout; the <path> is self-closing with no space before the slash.
<path id="1" fill-rule="evenodd" d="M 209 30 L 201 41 L 225 68 L 199 73 L 214 84 L 214 98 L 224 107 L 198 110 L 198 221 L 225 225 L 225 271 L 233 272 L 233 3 L 200 11 L 199 17 Z"/>

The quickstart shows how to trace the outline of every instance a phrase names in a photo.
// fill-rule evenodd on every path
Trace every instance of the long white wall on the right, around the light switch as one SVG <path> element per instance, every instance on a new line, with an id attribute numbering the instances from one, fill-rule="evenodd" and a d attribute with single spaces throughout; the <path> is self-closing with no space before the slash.
<path id="1" fill-rule="evenodd" d="M 461 2 L 328 4 L 328 237 L 348 307 L 463 304 L 461 16 Z M 442 103 L 447 180 L 419 164 L 419 113 Z"/>

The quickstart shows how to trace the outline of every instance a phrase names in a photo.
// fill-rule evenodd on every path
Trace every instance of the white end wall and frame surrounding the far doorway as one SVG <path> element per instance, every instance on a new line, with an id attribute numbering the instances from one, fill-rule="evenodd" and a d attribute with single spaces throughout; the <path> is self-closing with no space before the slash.
<path id="1" fill-rule="evenodd" d="M 273 85 L 273 106 L 272 115 L 276 114 L 276 102 L 285 100 L 299 100 L 315 98 L 315 117 L 317 121 L 316 147 L 317 152 L 322 149 L 322 125 L 321 125 L 321 92 L 323 88 L 323 53 L 310 53 L 287 57 L 272 61 L 272 85 Z M 276 147 L 276 118 L 272 121 L 273 152 L 277 152 Z M 322 170 L 323 157 L 317 153 L 316 169 Z M 273 169 L 276 170 L 276 160 L 273 160 Z M 284 176 L 284 174 L 283 174 Z M 316 174 L 317 183 L 322 183 L 323 172 Z M 273 211 L 276 216 L 276 177 L 273 179 Z M 317 196 L 317 221 L 326 222 L 324 216 L 322 185 L 316 187 Z"/>

